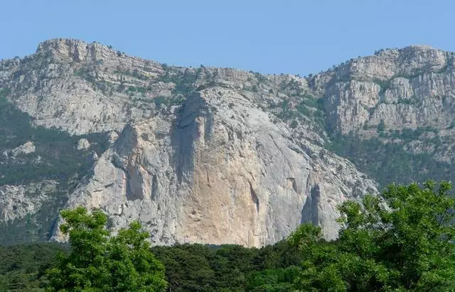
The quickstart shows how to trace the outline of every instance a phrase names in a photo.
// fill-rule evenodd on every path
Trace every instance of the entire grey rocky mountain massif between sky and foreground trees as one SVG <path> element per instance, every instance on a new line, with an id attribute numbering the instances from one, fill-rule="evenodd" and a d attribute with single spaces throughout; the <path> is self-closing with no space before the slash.
<path id="1" fill-rule="evenodd" d="M 267 245 L 391 181 L 451 179 L 454 53 L 380 50 L 320 74 L 183 68 L 54 39 L 0 62 L 1 243 L 65 240 L 58 210 L 157 245 Z"/>

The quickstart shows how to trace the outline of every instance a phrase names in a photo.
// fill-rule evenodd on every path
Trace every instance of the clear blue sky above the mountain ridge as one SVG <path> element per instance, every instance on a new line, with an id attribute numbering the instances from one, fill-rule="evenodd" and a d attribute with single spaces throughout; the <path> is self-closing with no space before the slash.
<path id="1" fill-rule="evenodd" d="M 1 0 L 0 58 L 49 38 L 182 66 L 309 74 L 385 47 L 455 50 L 453 0 Z"/>

